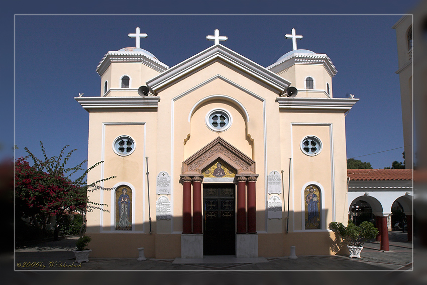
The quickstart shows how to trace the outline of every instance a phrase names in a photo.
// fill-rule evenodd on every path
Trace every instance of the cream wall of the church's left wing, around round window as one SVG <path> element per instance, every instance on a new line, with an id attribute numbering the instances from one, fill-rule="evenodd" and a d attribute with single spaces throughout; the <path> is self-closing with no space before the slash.
<path id="1" fill-rule="evenodd" d="M 110 188 L 119 182 L 127 182 L 134 187 L 133 195 L 136 199 L 134 205 L 136 206 L 133 210 L 136 231 L 142 231 L 143 223 L 148 221 L 148 209 L 145 209 L 148 199 L 144 185 L 145 156 L 156 157 L 156 128 L 155 112 L 91 112 L 89 116 L 88 165 L 101 160 L 106 163 L 92 169 L 88 174 L 88 181 L 117 176 L 103 182 L 103 186 Z M 113 151 L 113 142 L 120 135 L 131 136 L 135 140 L 135 151 L 131 155 L 119 156 Z M 156 167 L 155 159 L 150 163 L 153 168 Z M 150 178 L 155 181 L 155 174 L 153 173 Z M 98 190 L 89 194 L 90 201 L 108 204 L 105 207 L 107 210 L 111 210 L 112 207 L 111 196 L 111 191 Z M 155 205 L 154 199 L 153 196 L 151 203 Z M 89 212 L 88 232 L 100 231 L 100 217 L 102 231 L 112 231 L 112 215 L 114 213 L 103 212 L 100 216 L 99 211 Z M 147 228 L 145 227 L 144 230 L 146 231 Z M 113 232 L 123 231 L 113 230 Z"/>

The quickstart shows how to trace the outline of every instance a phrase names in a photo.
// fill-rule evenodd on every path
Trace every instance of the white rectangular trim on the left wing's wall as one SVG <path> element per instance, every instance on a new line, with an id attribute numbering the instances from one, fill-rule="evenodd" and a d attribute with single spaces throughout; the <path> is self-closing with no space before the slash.
<path id="1" fill-rule="evenodd" d="M 146 133 L 147 133 L 147 126 L 146 126 L 146 122 L 102 122 L 102 135 L 101 135 L 101 161 L 105 161 L 105 126 L 126 126 L 126 125 L 143 125 L 143 126 L 145 126 L 145 128 L 144 128 L 144 147 L 143 147 L 143 156 L 144 156 L 144 158 L 145 158 L 145 155 L 146 155 Z M 135 140 L 134 140 L 134 142 L 135 142 Z M 110 145 L 110 144 L 109 144 Z M 112 225 L 110 224 L 110 231 L 104 231 L 103 230 L 103 212 L 101 211 L 101 210 L 99 210 L 99 232 L 100 233 L 116 233 L 116 232 L 118 232 L 118 233 L 124 233 L 124 232 L 131 232 L 131 233 L 144 233 L 145 232 L 145 220 L 144 220 L 144 217 L 145 217 L 145 195 L 144 195 L 144 193 L 145 193 L 145 191 L 144 191 L 144 189 L 145 189 L 145 172 L 146 172 L 146 170 L 145 170 L 145 164 L 143 164 L 143 176 L 142 176 L 142 191 L 141 191 L 141 193 L 142 193 L 142 231 L 135 231 L 134 229 L 135 229 L 135 227 L 134 227 L 134 225 L 135 225 L 135 219 L 136 219 L 136 216 L 135 216 L 135 213 L 136 212 L 134 212 L 134 211 L 136 211 L 136 197 L 137 197 L 137 194 L 136 194 L 136 190 L 132 187 L 132 231 L 116 231 L 116 230 L 114 230 L 113 232 L 111 231 L 111 228 L 112 228 Z M 101 175 L 100 175 L 101 177 L 100 177 L 100 179 L 103 179 L 103 178 L 105 178 L 104 177 L 104 163 L 101 163 Z M 127 183 L 127 182 L 124 182 L 124 183 Z M 116 184 L 117 185 L 117 184 Z M 100 182 L 100 186 L 101 187 L 103 187 L 104 186 L 104 182 L 103 181 L 101 181 Z M 131 187 L 131 186 L 130 186 Z M 135 191 L 134 191 L 135 190 Z M 115 191 L 112 191 L 112 192 L 115 192 Z M 113 200 L 112 200 L 113 201 Z M 100 204 L 104 204 L 104 195 L 103 195 L 103 191 L 100 191 Z M 114 203 L 115 204 L 115 203 Z M 113 207 L 113 206 L 111 206 L 111 207 Z M 115 206 L 114 206 L 115 207 Z M 115 209 L 115 208 L 114 208 Z M 111 214 L 113 215 L 113 217 L 114 217 L 114 215 L 115 215 L 115 213 L 113 213 L 113 211 L 111 212 Z M 111 221 L 111 220 L 110 220 Z"/>

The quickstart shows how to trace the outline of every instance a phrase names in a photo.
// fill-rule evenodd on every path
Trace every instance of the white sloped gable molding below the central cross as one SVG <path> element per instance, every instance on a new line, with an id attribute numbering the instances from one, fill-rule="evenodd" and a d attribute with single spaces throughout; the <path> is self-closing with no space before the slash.
<path id="1" fill-rule="evenodd" d="M 266 69 L 265 67 L 247 59 L 237 52 L 221 45 L 211 46 L 204 51 L 188 58 L 187 60 L 178 63 L 177 65 L 165 70 L 158 76 L 147 81 L 147 85 L 155 94 L 158 91 L 166 88 L 175 80 L 191 73 L 197 68 L 208 64 L 214 60 L 222 60 L 228 64 L 244 71 L 254 79 L 261 81 L 277 90 L 279 96 L 286 92 L 290 82 L 280 77 L 276 73 Z"/>

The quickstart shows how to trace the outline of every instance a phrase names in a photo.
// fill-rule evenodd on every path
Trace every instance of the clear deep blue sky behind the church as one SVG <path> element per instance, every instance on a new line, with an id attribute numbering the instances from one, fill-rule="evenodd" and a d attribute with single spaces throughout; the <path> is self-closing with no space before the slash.
<path id="1" fill-rule="evenodd" d="M 399 6 L 384 13 L 406 11 Z M 213 13 L 218 12 L 214 9 Z M 231 9 L 228 13 L 237 12 Z M 402 147 L 400 86 L 395 74 L 396 35 L 391 29 L 399 18 L 398 15 L 17 15 L 15 143 L 19 149 L 16 156 L 25 155 L 24 147 L 41 156 L 41 140 L 49 156 L 57 155 L 62 146 L 69 144 L 70 150 L 78 149 L 70 164 L 87 158 L 88 113 L 73 97 L 79 92 L 87 97 L 99 96 L 96 65 L 106 52 L 134 46 L 135 40 L 127 34 L 134 33 L 136 26 L 148 34 L 147 39 L 141 40 L 141 47 L 169 67 L 211 46 L 205 36 L 212 35 L 215 29 L 229 38 L 222 44 L 268 66 L 292 49 L 292 41 L 284 35 L 295 28 L 304 37 L 298 40 L 298 48 L 326 53 L 338 69 L 333 78 L 334 97 L 345 98 L 346 93 L 352 93 L 360 99 L 346 117 L 347 157 Z M 10 31 L 7 34 L 10 36 Z M 6 64 L 11 60 L 12 54 Z M 8 97 L 6 103 L 11 102 L 13 97 L 12 100 Z M 1 116 L 10 115 L 8 109 Z M 13 137 L 13 125 L 5 131 Z M 0 140 L 5 146 L 2 156 L 12 153 L 10 142 L 5 137 Z M 374 168 L 383 168 L 391 166 L 393 160 L 402 161 L 402 151 L 400 148 L 357 159 L 371 162 Z"/>

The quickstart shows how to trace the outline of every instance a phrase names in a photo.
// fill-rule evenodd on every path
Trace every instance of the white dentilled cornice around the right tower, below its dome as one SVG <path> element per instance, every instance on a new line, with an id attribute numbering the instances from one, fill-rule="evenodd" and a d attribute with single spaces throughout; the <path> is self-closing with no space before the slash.
<path id="1" fill-rule="evenodd" d="M 331 77 L 334 77 L 338 72 L 337 68 L 335 68 L 335 65 L 332 63 L 332 60 L 324 53 L 294 53 L 289 55 L 289 57 L 284 58 L 280 62 L 273 63 L 266 68 L 271 69 L 273 72 L 278 72 L 295 64 L 323 65 Z"/>

